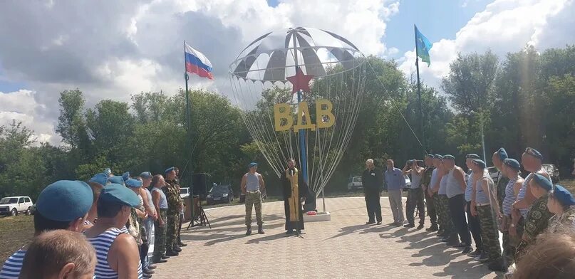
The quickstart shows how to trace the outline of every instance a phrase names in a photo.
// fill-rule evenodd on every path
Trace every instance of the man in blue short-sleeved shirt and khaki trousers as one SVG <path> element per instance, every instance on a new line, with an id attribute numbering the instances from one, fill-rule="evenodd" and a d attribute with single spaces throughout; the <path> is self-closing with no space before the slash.
<path id="1" fill-rule="evenodd" d="M 405 187 L 405 177 L 401 169 L 395 167 L 393 159 L 388 159 L 387 166 L 388 170 L 384 173 L 385 189 L 388 191 L 389 206 L 393 214 L 393 223 L 390 225 L 403 226 L 405 217 L 403 216 L 401 190 Z"/>

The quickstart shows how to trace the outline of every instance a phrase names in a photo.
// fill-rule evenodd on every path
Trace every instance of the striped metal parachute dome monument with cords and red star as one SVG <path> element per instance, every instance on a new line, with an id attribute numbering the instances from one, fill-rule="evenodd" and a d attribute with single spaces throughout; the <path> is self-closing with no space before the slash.
<path id="1" fill-rule="evenodd" d="M 328 184 L 356 125 L 365 70 L 366 57 L 346 38 L 304 27 L 266 33 L 229 65 L 234 98 L 244 110 L 247 129 L 278 176 L 286 169 L 287 160 L 294 158 L 316 196 Z M 316 119 L 317 100 L 333 104 L 334 120 L 325 115 Z M 309 104 L 310 115 L 298 111 L 301 102 Z M 276 104 L 289 104 L 294 123 L 299 115 L 306 124 L 334 124 L 278 132 L 274 128 Z"/>

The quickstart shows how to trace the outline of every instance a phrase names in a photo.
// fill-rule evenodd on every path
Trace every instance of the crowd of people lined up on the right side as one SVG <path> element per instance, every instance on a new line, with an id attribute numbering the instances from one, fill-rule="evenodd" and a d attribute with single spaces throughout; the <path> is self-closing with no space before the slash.
<path id="1" fill-rule="evenodd" d="M 418 229 L 422 229 L 427 204 L 431 226 L 426 230 L 437 231 L 442 243 L 461 248 L 462 253 L 486 263 L 489 270 L 507 272 L 515 264 L 507 278 L 573 278 L 574 196 L 553 184 L 543 167 L 544 157 L 536 149 L 525 149 L 521 163 L 509 158 L 504 148 L 494 152 L 491 159 L 497 168 L 496 181 L 477 154 L 465 157 L 467 173 L 449 154 L 428 154 L 423 161 L 425 167 L 420 167 L 418 160 L 409 160 L 403 169 L 388 159 L 385 171 L 368 159 L 362 177 L 367 223 L 382 222 L 380 192 L 387 191 L 393 214 L 391 226 L 414 228 L 417 209 Z M 526 177 L 522 177 L 522 168 L 529 172 Z M 408 186 L 405 175 L 410 176 Z M 408 223 L 403 214 L 402 191 L 408 191 Z"/>

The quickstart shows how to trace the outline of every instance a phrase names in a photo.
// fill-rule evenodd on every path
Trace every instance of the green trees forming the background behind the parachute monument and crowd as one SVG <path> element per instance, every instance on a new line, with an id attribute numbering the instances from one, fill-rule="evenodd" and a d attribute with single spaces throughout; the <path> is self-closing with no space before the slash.
<path id="1" fill-rule="evenodd" d="M 420 135 L 413 75 L 405 76 L 393 60 L 371 56 L 367 61 L 361 73 L 366 75 L 366 94 L 357 124 L 326 191 L 345 189 L 348 177 L 360 174 L 368 158 L 383 167 L 384 159 L 403 164 L 426 151 L 455 154 L 462 164 L 463 154 L 481 154 L 482 127 L 487 157 L 505 147 L 511 157 L 519 158 L 529 146 L 540 149 L 545 161 L 558 165 L 561 172 L 571 167 L 575 157 L 575 46 L 542 53 L 526 47 L 501 61 L 490 51 L 460 53 L 442 80 L 442 92 L 421 84 L 425 137 Z M 326 95 L 317 90 L 321 80 L 317 82 L 316 89 L 312 87 L 314 96 Z M 61 146 L 38 144 L 33 131 L 19 122 L 0 127 L 0 196 L 35 199 L 53 181 L 88 179 L 105 167 L 134 175 L 162 173 L 166 167 L 177 166 L 185 174 L 184 184 L 191 169 L 238 187 L 252 161 L 259 162 L 269 193 L 279 194 L 274 172 L 242 120 L 242 113 L 247 112 L 218 93 L 192 90 L 188 133 L 185 94 L 183 90 L 138 93 L 130 103 L 100 100 L 86 107 L 80 89 L 64 90 L 58 99 L 61 113 L 56 127 Z M 257 110 L 249 113 L 268 118 L 269 113 L 273 115 L 269 105 L 289 100 L 291 92 L 276 88 L 261 96 Z M 313 96 L 304 97 L 313 104 Z"/>

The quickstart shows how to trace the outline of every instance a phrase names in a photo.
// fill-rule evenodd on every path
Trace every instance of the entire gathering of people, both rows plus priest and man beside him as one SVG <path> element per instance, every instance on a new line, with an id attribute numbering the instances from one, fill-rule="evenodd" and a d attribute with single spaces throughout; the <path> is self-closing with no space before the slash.
<path id="1" fill-rule="evenodd" d="M 498 171 L 494 181 L 477 154 L 465 157 L 467 173 L 452 155 L 428 154 L 425 167 L 413 159 L 403 169 L 388 159 L 385 171 L 368 159 L 362 177 L 367 224 L 383 222 L 380 194 L 387 191 L 393 214 L 390 226 L 415 228 L 417 211 L 417 229 L 424 227 L 428 216 L 427 231 L 437 231 L 441 242 L 461 248 L 490 270 L 507 271 L 515 264 L 507 276 L 570 278 L 575 274 L 575 198 L 552 183 L 542 162 L 542 154 L 533 148 L 525 150 L 521 163 L 498 149 L 492 155 Z M 299 236 L 304 229 L 302 204 L 313 195 L 294 159 L 287 165 L 281 174 L 285 229 L 287 235 Z M 522 177 L 522 168 L 529 172 L 527 177 Z M 409 185 L 405 175 L 410 176 Z M 138 177 L 128 172 L 115 176 L 105 169 L 87 183 L 63 180 L 46 186 L 36 202 L 35 237 L 6 260 L 0 279 L 152 278 L 155 264 L 179 256 L 185 246 L 180 237 L 184 205 L 177 177 L 175 167 L 163 175 L 142 172 Z M 257 233 L 263 234 L 265 184 L 257 163 L 249 164 L 241 189 L 247 196 L 246 235 L 252 233 L 253 207 Z M 406 218 L 402 191 L 408 191 Z M 149 258 L 152 228 L 155 240 Z"/>

